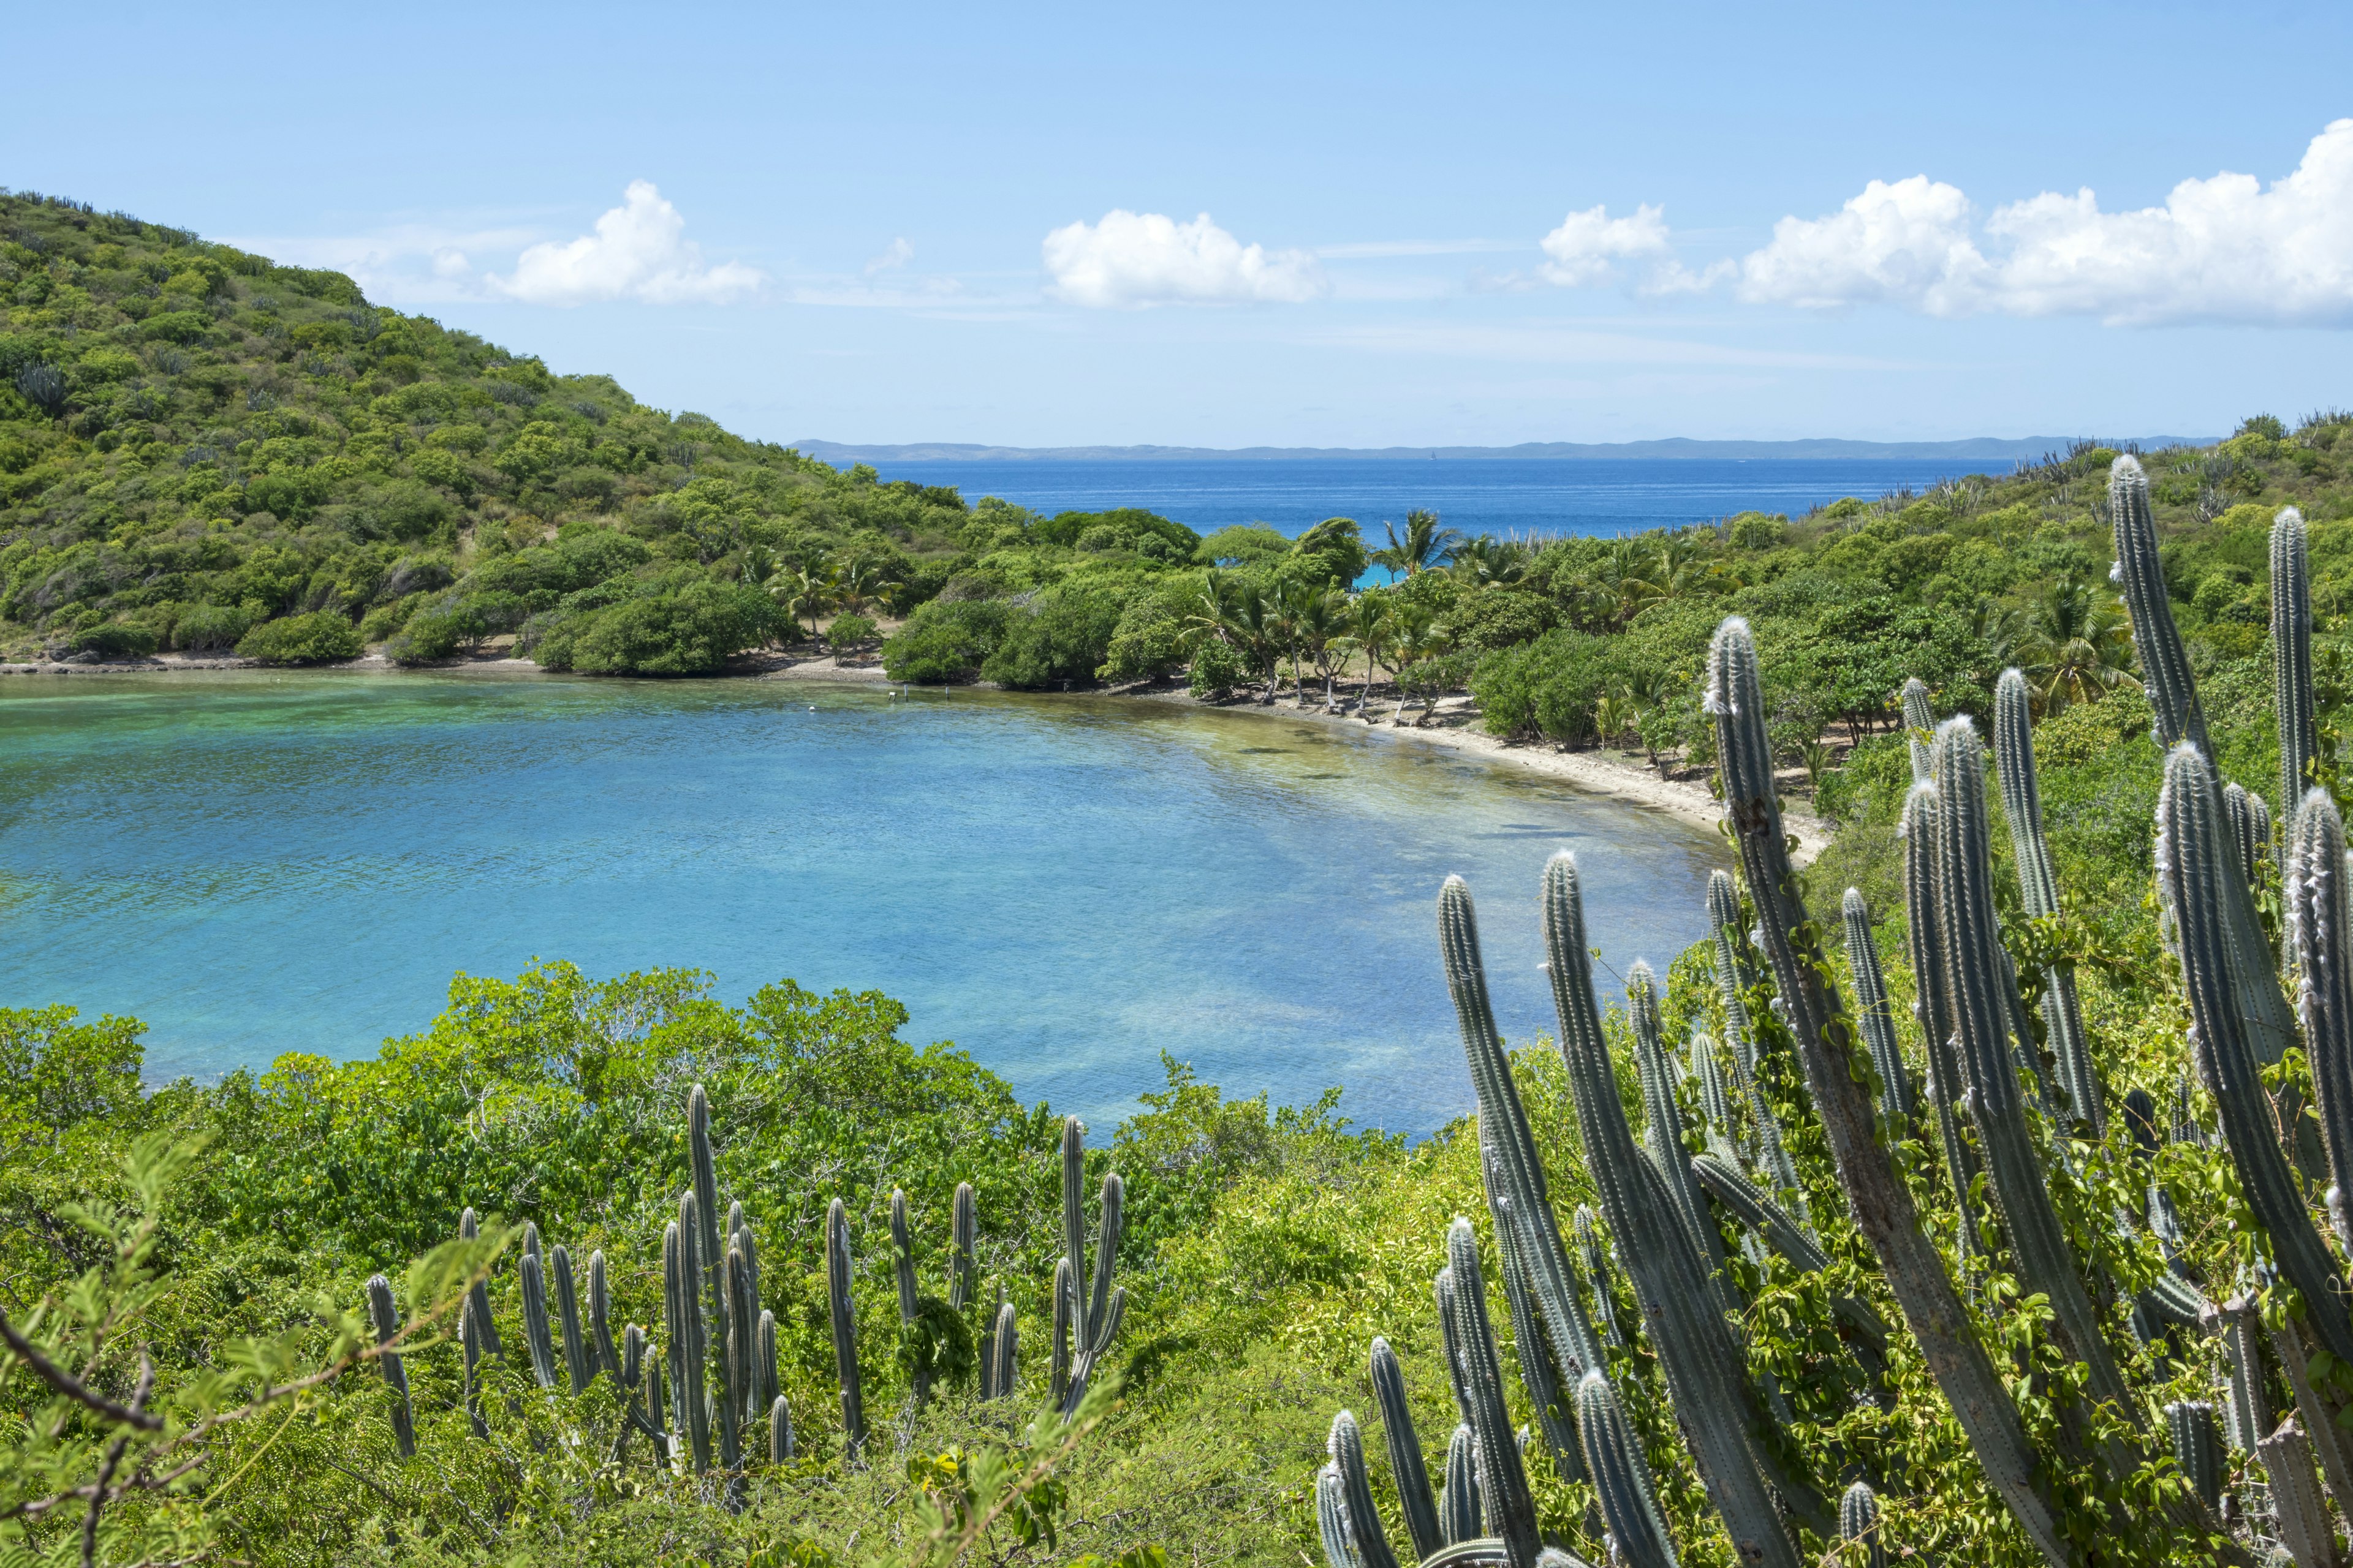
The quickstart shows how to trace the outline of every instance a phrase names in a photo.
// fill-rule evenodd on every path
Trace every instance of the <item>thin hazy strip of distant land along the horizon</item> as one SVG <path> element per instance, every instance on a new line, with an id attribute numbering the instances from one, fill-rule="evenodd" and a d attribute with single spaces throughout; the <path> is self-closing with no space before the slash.
<path id="1" fill-rule="evenodd" d="M 2092 440 L 2099 447 L 2158 451 L 2162 447 L 2212 447 L 2219 435 L 2078 437 L 1979 435 L 1965 442 L 1520 442 L 1518 447 L 988 447 L 979 442 L 904 442 L 896 447 L 852 442 L 793 442 L 821 463 L 1266 463 L 1278 458 L 1715 458 L 1786 463 L 1793 458 L 1953 458 L 1962 463 L 2019 463 Z"/>

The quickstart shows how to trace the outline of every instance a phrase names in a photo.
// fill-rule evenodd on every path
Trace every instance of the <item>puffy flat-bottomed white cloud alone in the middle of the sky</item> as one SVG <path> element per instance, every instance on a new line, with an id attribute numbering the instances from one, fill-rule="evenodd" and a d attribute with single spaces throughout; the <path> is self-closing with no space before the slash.
<path id="1" fill-rule="evenodd" d="M 1306 252 L 1242 244 L 1200 214 L 1179 223 L 1113 207 L 1101 223 L 1068 223 L 1045 237 L 1054 294 L 1073 306 L 1169 306 L 1315 299 L 1329 284 Z"/>

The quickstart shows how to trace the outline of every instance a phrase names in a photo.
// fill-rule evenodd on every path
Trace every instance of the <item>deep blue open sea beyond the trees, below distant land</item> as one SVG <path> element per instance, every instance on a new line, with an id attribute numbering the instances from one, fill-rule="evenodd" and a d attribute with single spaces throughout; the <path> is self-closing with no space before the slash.
<path id="1" fill-rule="evenodd" d="M 1038 512 L 1141 505 L 1198 534 L 1266 522 L 1301 534 L 1355 517 L 1381 543 L 1384 522 L 1431 508 L 1464 534 L 1635 534 L 1744 510 L 1812 505 L 1960 477 L 1922 458 L 993 458 L 880 463 L 885 480 L 955 484 L 967 501 L 1002 496 Z"/>

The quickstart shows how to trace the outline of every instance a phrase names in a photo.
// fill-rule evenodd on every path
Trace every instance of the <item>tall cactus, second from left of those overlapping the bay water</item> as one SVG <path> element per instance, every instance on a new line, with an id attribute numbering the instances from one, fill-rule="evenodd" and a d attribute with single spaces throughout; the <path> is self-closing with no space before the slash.
<path id="1" fill-rule="evenodd" d="M 1449 882 L 1449 891 L 1457 886 L 1459 882 Z M 1468 893 L 1461 903 L 1468 912 Z M 1675 1215 L 1664 1178 L 1626 1126 L 1609 1041 L 1593 1001 L 1577 860 L 1567 853 L 1553 856 L 1544 867 L 1544 945 L 1586 1168 L 1609 1234 L 1617 1237 L 1619 1260 L 1633 1279 L 1649 1342 L 1666 1368 L 1675 1418 L 1744 1563 L 1795 1568 L 1795 1547 L 1781 1526 L 1758 1453 L 1765 1406 L 1748 1382 L 1741 1347 L 1715 1307 L 1706 1265 Z M 1781 1476 L 1779 1490 L 1791 1512 L 1807 1514 L 1809 1486 L 1802 1476 Z M 1819 1495 L 1814 1502 L 1814 1528 L 1824 1528 Z"/>

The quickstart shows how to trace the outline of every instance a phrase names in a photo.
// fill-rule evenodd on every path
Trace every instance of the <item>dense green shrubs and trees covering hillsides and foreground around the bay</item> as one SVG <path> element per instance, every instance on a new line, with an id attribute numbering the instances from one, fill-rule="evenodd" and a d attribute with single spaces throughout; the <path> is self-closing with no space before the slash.
<path id="1" fill-rule="evenodd" d="M 0 571 L 5 614 L 26 637 L 94 654 L 235 642 L 325 661 L 388 628 L 414 658 L 511 628 L 548 663 L 694 672 L 871 604 L 904 621 L 885 658 L 925 679 L 1045 686 L 1191 670 L 1205 691 L 1271 691 L 1287 665 L 1308 691 L 1353 656 L 1388 670 L 1400 696 L 1468 682 L 1501 731 L 1638 738 L 1666 762 L 1713 762 L 1744 825 L 1720 936 L 1659 954 L 1671 964 L 1654 1013 L 1581 1020 L 1565 1006 L 1569 1051 L 1518 1034 L 1506 1093 L 1501 1053 L 1466 1006 L 1485 1126 L 1464 1119 L 1407 1145 L 1351 1131 L 1329 1100 L 1224 1100 L 1172 1063 L 1144 1114 L 1096 1128 L 1082 1182 L 1066 1182 L 1047 1107 L 1024 1107 L 951 1046 L 899 1039 L 904 1011 L 882 997 L 816 997 L 791 980 L 727 1006 L 689 971 L 593 980 L 548 964 L 515 980 L 459 978 L 442 1018 L 376 1060 L 289 1053 L 214 1086 L 144 1084 L 132 1020 L 0 1013 L 0 1309 L 21 1338 L 0 1352 L 0 1552 L 82 1561 L 89 1528 L 89 1561 L 946 1568 L 1118 1556 L 1144 1568 L 1162 1554 L 1294 1563 L 1329 1542 L 1334 1568 L 1386 1568 L 1372 1530 L 1398 1521 L 1409 1479 L 1400 1488 L 1374 1441 L 1362 1497 L 1320 1542 L 1318 1472 L 1341 1406 L 1386 1436 L 1365 1361 L 1377 1333 L 1402 1363 L 1414 1425 L 1457 1427 L 1431 1293 L 1440 1267 L 1506 1286 L 1487 1307 L 1504 1352 L 1487 1382 L 1508 1415 L 1466 1443 L 1489 1443 L 1480 1481 L 1499 1497 L 1475 1528 L 1508 1549 L 1471 1561 L 1532 1568 L 1506 1507 L 1511 1474 L 1529 1488 L 1529 1540 L 1541 1530 L 1598 1563 L 1614 1547 L 1642 1568 L 1866 1563 L 1880 1549 L 2068 1568 L 2245 1561 L 2233 1554 L 2289 1540 L 2308 1519 L 2299 1497 L 2327 1526 L 2306 1436 L 2337 1507 L 2353 1505 L 2334 1441 L 2353 1429 L 2353 1356 L 2332 1349 L 2353 1328 L 2341 1284 L 2297 1262 L 2318 1248 L 2322 1272 L 2341 1276 L 2329 1248 L 2353 1248 L 2327 1199 L 2353 1180 L 2353 1135 L 2341 1135 L 2353 1133 L 2353 1037 L 2339 1027 L 2353 1020 L 2353 994 L 2339 997 L 2353 952 L 2334 961 L 2315 945 L 2353 926 L 2341 903 L 2325 910 L 2334 919 L 2313 917 L 2322 872 L 2344 865 L 2341 839 L 2313 827 L 2332 820 L 2327 806 L 2289 827 L 2278 799 L 2292 792 L 2280 736 L 2282 722 L 2297 731 L 2299 703 L 2311 703 L 2311 743 L 2287 773 L 2329 797 L 2346 783 L 2346 421 L 2289 433 L 2252 418 L 2214 451 L 2146 454 L 2153 510 L 2129 614 L 2108 590 L 2113 454 L 2099 449 L 1929 496 L 1638 541 L 1452 541 L 1417 517 L 1384 550 L 1400 581 L 1355 592 L 1369 555 L 1346 520 L 1297 543 L 1264 529 L 1198 541 L 1146 512 L 965 508 L 369 313 L 336 277 L 56 202 L 9 197 L 0 221 L 16 268 L 0 336 L 14 393 L 0 397 L 19 400 L 0 425 Z M 174 268 L 153 275 L 165 259 Z M 165 317 L 184 320 L 148 336 Z M 296 341 L 336 322 L 341 336 Z M 384 339 L 395 348 L 379 355 Z M 113 360 L 89 367 L 106 353 L 127 364 L 111 378 Z M 449 416 L 431 411 L 435 397 Z M 473 435 L 435 444 L 454 428 Z M 532 468 L 536 442 L 555 442 L 560 461 Z M 595 458 L 607 442 L 628 442 L 624 454 L 642 442 L 645 463 Z M 591 496 L 595 475 L 612 487 Z M 398 512 L 400 498 L 438 508 L 431 524 L 398 531 L 395 515 L 416 517 Z M 2275 595 L 2294 597 L 2273 581 L 2285 501 L 2311 517 L 2313 679 L 2275 686 L 2266 625 Z M 1755 691 L 1704 679 L 1711 639 L 1739 646 L 1718 630 L 1727 614 L 1746 616 L 1762 649 Z M 228 630 L 200 644 L 184 625 Z M 2177 625 L 2181 639 L 2167 642 Z M 866 637 L 849 628 L 842 639 Z M 2021 677 L 2007 733 L 2031 726 L 2040 835 L 2009 818 L 1962 731 L 1929 750 L 1927 726 L 1899 715 L 1899 689 L 1918 677 L 1934 715 L 1991 717 L 2009 663 Z M 2217 785 L 2235 785 L 2214 792 L 2245 827 L 2228 846 L 2235 872 L 2217 870 L 2212 823 L 2191 832 L 2181 813 L 2205 795 L 2184 757 L 2160 750 L 2193 729 Z M 1833 743 L 1852 745 L 1838 773 L 1826 771 Z M 1817 773 L 1819 802 L 1842 823 L 1802 877 L 1777 860 L 1758 809 L 1774 762 Z M 1929 797 L 1915 790 L 1920 769 L 1937 776 Z M 1974 818 L 1969 780 L 1991 797 Z M 2275 832 L 2259 830 L 2247 792 L 2282 806 Z M 1922 799 L 1953 802 L 1955 816 L 1920 816 Z M 1906 813 L 1937 832 L 1899 837 Z M 1977 837 L 1948 844 L 1944 820 L 1974 823 Z M 1920 870 L 1929 837 L 1953 851 L 1937 872 Z M 2282 877 L 2287 849 L 2313 842 L 2320 853 Z M 1981 872 L 1969 872 L 1972 849 Z M 2057 907 L 2038 903 L 2035 856 L 2049 858 Z M 2214 964 L 2221 893 L 2184 882 L 2191 872 L 2247 884 L 2259 961 Z M 1984 919 L 1962 922 L 1974 947 L 1960 959 L 1906 917 L 1918 886 L 1906 877 L 1920 875 L 1984 903 L 1972 905 Z M 1534 884 L 1532 865 L 1525 889 L 1482 889 L 1489 919 L 1525 907 Z M 1861 893 L 1849 940 L 1814 952 L 1849 884 Z M 2282 945 L 2289 907 L 2306 917 Z M 1449 978 L 1471 997 L 1459 900 L 1449 922 Z M 2297 1039 L 2282 1034 L 2259 1074 L 2231 1079 L 2217 1030 L 2257 1018 L 2266 985 L 2278 992 L 2273 952 L 2327 1006 Z M 1553 969 L 1555 983 L 1574 976 L 1581 943 L 1555 943 Z M 1977 1053 L 1958 1077 L 1969 1100 L 1951 1067 L 1932 1067 L 1944 1030 L 1911 1011 L 1920 999 L 1939 1018 L 1920 973 L 1991 999 L 1953 1030 Z M 1859 1004 L 1835 1027 L 1824 978 Z M 2273 997 L 2280 1018 L 2287 994 Z M 2193 1018 L 2207 1041 L 2195 1070 Z M 525 1354 L 546 1321 L 536 1307 L 532 1331 L 546 1279 L 536 1234 L 569 1258 L 600 1251 L 614 1324 L 666 1342 L 678 1305 L 664 1300 L 664 1225 L 699 1182 L 694 1084 L 708 1088 L 715 1190 L 744 1204 L 795 1429 L 788 1458 L 755 1443 L 736 1483 L 685 1460 L 656 1465 L 645 1436 L 624 1443 L 619 1378 L 576 1389 L 569 1368 Z M 1513 1103 L 1553 1227 L 1527 1222 L 1525 1166 L 1513 1175 L 1497 1159 L 1522 1147 L 1506 1143 Z M 1638 1229 L 1645 1211 L 1624 1199 L 1631 1145 L 1612 1143 L 1628 1124 L 1647 1131 L 1647 1154 L 1631 1159 L 1657 1171 L 1633 1187 L 1668 1192 L 1675 1171 L 1713 1159 L 1762 1190 L 1748 1197 L 1769 1194 L 1784 1227 L 1753 1222 L 1762 1211 L 1739 1187 L 1711 1182 L 1682 1187 L 1673 1220 Z M 1965 1173 L 1981 1161 L 1974 1182 L 1951 1180 L 1955 1147 Z M 1873 1150 L 1882 1187 L 1868 1185 Z M 2268 1182 L 2264 1159 L 2287 1161 L 2289 1185 Z M 1111 1375 L 1073 1425 L 1033 1425 L 1056 1382 L 1054 1262 L 1085 1253 L 1068 1237 L 1068 1192 L 1092 1194 L 1113 1171 L 1127 1295 Z M 2042 1199 L 2017 1185 L 2021 1173 Z M 979 1279 L 962 1293 L 948 1284 L 958 1185 L 979 1220 Z M 894 1190 L 913 1220 L 906 1286 Z M 1889 1260 L 1887 1208 L 1866 1201 L 1889 1192 L 1934 1241 L 1929 1269 L 1953 1295 L 1944 1324 L 1920 1316 L 1922 1274 Z M 845 1288 L 828 1279 L 835 1201 Z M 1579 1220 L 1586 1206 L 1598 1222 Z M 466 1208 L 485 1218 L 475 1241 L 459 1239 Z M 1499 1232 L 1497 1213 L 1520 1215 L 1520 1229 Z M 1475 1225 L 1449 1241 L 1454 1215 Z M 1537 1300 L 1529 1260 L 1546 1229 L 1579 1241 L 1565 1269 L 1591 1354 L 1560 1328 L 1567 1302 Z M 1682 1246 L 1720 1262 L 1668 1321 L 1654 1267 L 1659 1248 Z M 402 1333 L 414 1458 L 400 1453 L 400 1401 L 365 1316 L 379 1272 Z M 468 1373 L 449 1335 L 475 1281 L 506 1352 Z M 1000 1288 L 1021 1352 L 1009 1394 L 981 1399 Z M 951 1295 L 951 1307 L 929 1300 Z M 1699 1300 L 1739 1324 L 1713 1340 L 1711 1354 L 1729 1345 L 1737 1359 L 1711 1363 L 1722 1401 L 1692 1399 L 1699 1361 L 1675 1340 L 1704 1319 L 1689 1312 Z M 1880 1340 L 1859 1324 L 1878 1324 Z M 1922 1349 L 1939 1333 L 1984 1347 L 1979 1392 L 2012 1410 L 2021 1465 L 1993 1465 L 1988 1427 L 1955 1418 L 1951 1363 Z M 871 1432 L 856 1455 L 838 1392 L 842 1338 L 864 1363 Z M 49 1373 L 26 1349 L 45 1352 Z M 734 1354 L 711 1347 L 713 1361 Z M 1607 1476 L 1595 1439 L 1529 1396 L 1541 1368 L 1572 1361 L 1600 1373 L 1631 1434 Z M 2127 1394 L 2111 1399 L 2108 1380 Z M 1600 1432 L 1591 1387 L 1562 1392 Z M 1769 1410 L 1769 1429 L 1722 1439 L 1744 1399 Z M 2198 1403 L 2231 1410 L 2228 1450 Z M 2273 1418 L 2285 1410 L 2306 1436 L 2282 1446 Z M 1532 1429 L 1525 1472 L 1499 1448 L 1515 1422 Z M 1758 1516 L 1727 1486 L 1739 1443 L 1786 1505 L 1788 1523 L 1765 1530 L 1777 1547 L 1751 1544 Z M 1433 1469 L 1442 1446 L 1431 1443 Z M 1628 1502 L 1642 1472 L 1654 1528 Z M 1821 1502 L 1852 1481 L 1875 1493 L 1875 1535 L 1840 1540 Z M 2193 1493 L 2226 1507 L 2200 1514 Z M 2028 1497 L 2052 1528 L 2028 1519 Z M 1393 1523 L 1388 1535 L 1395 1554 Z M 2308 1547 L 2299 1561 L 2320 1561 Z"/>

